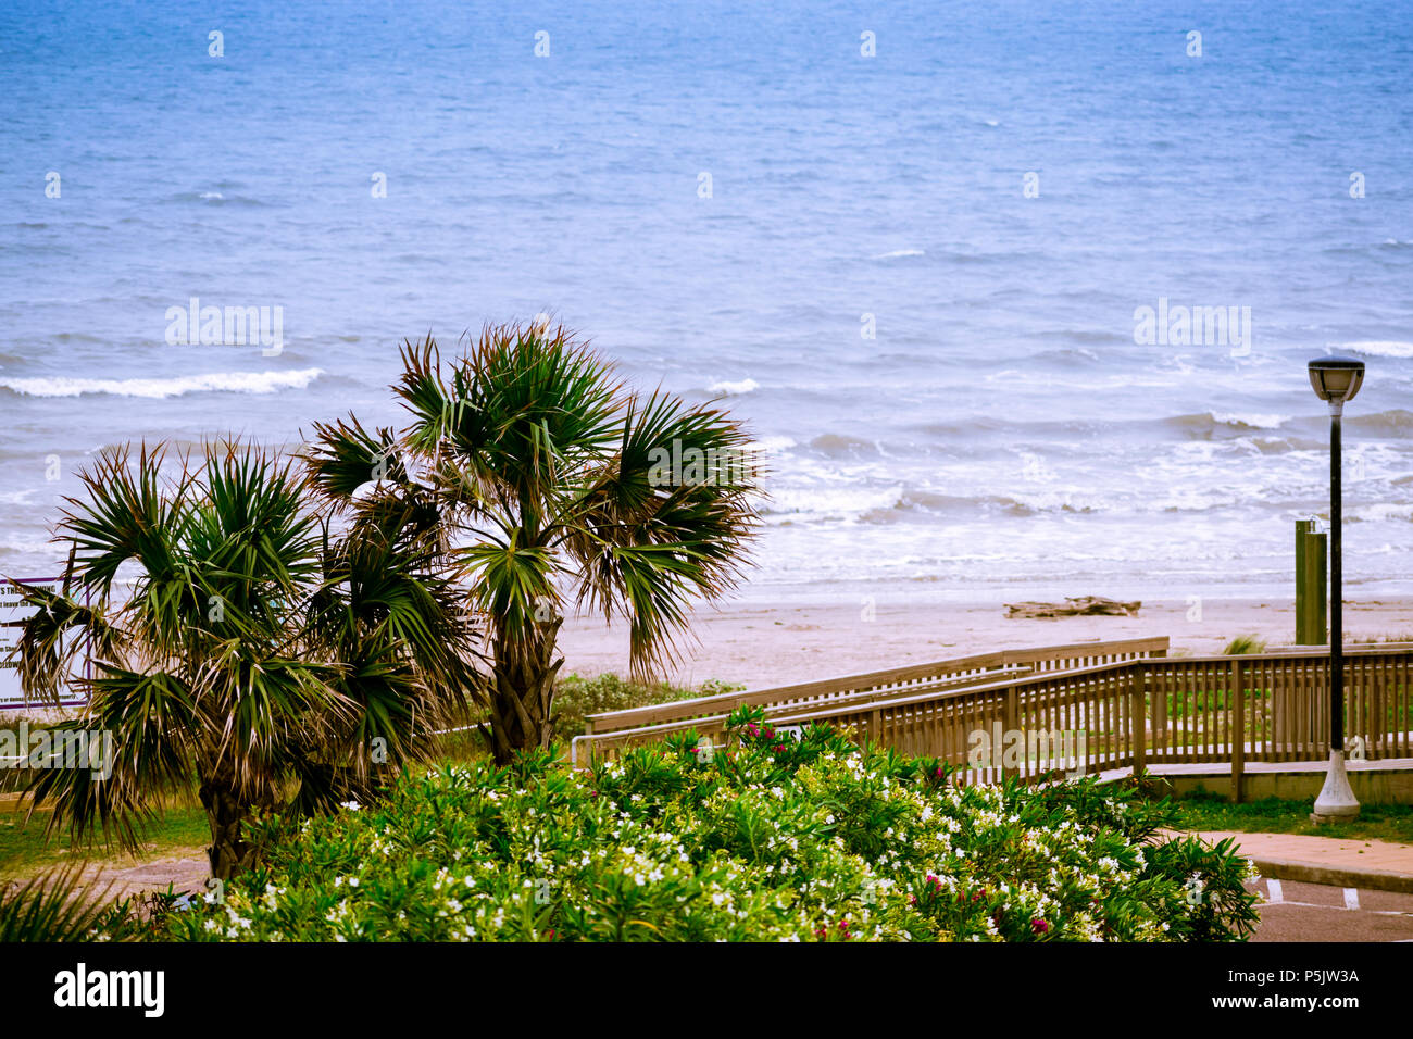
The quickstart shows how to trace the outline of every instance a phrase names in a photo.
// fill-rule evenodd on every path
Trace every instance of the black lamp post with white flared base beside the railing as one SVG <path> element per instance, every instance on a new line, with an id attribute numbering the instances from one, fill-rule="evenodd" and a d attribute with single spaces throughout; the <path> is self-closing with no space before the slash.
<path id="1" fill-rule="evenodd" d="M 1344 403 L 1354 400 L 1364 383 L 1364 362 L 1355 358 L 1318 358 L 1310 362 L 1310 385 L 1330 403 L 1330 770 L 1316 799 L 1317 823 L 1352 818 L 1359 802 L 1344 772 L 1344 509 L 1340 489 L 1340 418 Z"/>

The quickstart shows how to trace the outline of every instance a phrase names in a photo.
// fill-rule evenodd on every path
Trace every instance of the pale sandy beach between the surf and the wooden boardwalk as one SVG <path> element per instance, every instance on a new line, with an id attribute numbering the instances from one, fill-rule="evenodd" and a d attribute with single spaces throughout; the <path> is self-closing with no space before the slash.
<path id="1" fill-rule="evenodd" d="M 1002 605 L 880 601 L 872 619 L 856 604 L 736 604 L 698 609 L 699 645 L 663 676 L 682 684 L 709 679 L 752 688 L 786 686 L 909 663 L 1023 646 L 1166 635 L 1173 653 L 1219 653 L 1238 635 L 1272 646 L 1294 642 L 1294 602 L 1207 599 L 1201 619 L 1186 599 L 1145 602 L 1137 616 L 1007 619 Z M 1413 599 L 1347 601 L 1345 642 L 1413 639 Z M 560 635 L 565 673 L 627 673 L 627 629 L 572 618 Z"/>

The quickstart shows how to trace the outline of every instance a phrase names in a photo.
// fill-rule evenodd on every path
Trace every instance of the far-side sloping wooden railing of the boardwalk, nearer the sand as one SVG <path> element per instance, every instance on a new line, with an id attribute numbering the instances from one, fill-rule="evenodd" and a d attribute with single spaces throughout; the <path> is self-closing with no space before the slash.
<path id="1" fill-rule="evenodd" d="M 1030 674 L 1070 671 L 1075 667 L 1119 663 L 1167 653 L 1169 639 L 1122 639 L 1084 642 L 1036 649 L 1009 649 L 999 653 L 937 660 L 926 664 L 892 667 L 868 674 L 825 679 L 764 690 L 719 693 L 709 697 L 678 700 L 626 711 L 588 717 L 585 735 L 574 739 L 574 759 L 612 756 L 620 748 L 651 742 L 668 732 L 694 728 L 701 735 L 715 735 L 738 707 L 760 707 L 767 718 L 842 705 L 876 703 L 901 695 L 941 694 L 968 686 L 1019 679 Z"/>

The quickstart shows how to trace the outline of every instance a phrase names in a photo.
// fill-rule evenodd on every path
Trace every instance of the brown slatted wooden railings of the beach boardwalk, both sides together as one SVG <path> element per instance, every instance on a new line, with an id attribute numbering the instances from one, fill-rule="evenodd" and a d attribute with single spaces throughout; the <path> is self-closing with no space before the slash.
<path id="1" fill-rule="evenodd" d="M 579 738 L 589 744 L 589 755 L 579 749 L 575 756 L 613 756 L 625 746 L 688 728 L 715 735 L 739 703 L 766 707 L 777 728 L 828 721 L 858 741 L 940 758 L 957 768 L 959 782 L 995 782 L 1002 775 L 1034 779 L 1054 769 L 1080 775 L 1229 762 L 1239 792 L 1248 762 L 1328 756 L 1327 649 L 1167 657 L 1161 642 L 1143 649 L 1091 643 L 1082 656 L 1072 646 L 1013 650 L 988 654 L 985 669 L 974 664 L 983 657 L 964 657 L 924 666 L 928 674 L 911 679 L 899 676 L 914 669 L 897 669 L 706 697 L 664 705 L 680 708 L 678 717 L 649 715 L 647 724 L 609 728 L 619 718 L 644 718 L 642 711 L 616 711 L 595 715 L 598 734 Z M 1092 663 L 1106 652 L 1123 659 Z M 1029 663 L 1020 663 L 1027 653 Z M 876 681 L 879 676 L 894 676 L 894 683 Z M 1371 761 L 1413 756 L 1410 731 L 1413 643 L 1347 647 L 1347 753 Z"/>

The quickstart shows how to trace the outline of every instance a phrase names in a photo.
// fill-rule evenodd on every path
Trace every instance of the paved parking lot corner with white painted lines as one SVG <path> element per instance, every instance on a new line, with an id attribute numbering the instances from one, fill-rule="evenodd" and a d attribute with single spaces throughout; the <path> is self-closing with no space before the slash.
<path id="1" fill-rule="evenodd" d="M 1252 941 L 1413 941 L 1413 895 L 1269 881 Z"/>

